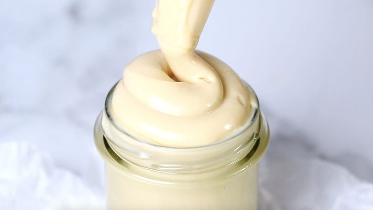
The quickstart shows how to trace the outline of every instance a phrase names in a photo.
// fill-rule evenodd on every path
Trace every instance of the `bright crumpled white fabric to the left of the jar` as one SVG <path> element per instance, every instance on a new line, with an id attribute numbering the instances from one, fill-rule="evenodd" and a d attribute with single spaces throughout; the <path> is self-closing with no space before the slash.
<path id="1" fill-rule="evenodd" d="M 87 186 L 25 142 L 0 143 L 0 209 L 102 209 L 102 189 Z"/>

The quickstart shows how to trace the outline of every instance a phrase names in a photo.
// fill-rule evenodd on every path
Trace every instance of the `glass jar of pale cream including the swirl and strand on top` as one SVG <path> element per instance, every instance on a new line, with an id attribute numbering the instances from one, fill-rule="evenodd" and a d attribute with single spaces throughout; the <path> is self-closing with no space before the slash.
<path id="1" fill-rule="evenodd" d="M 131 61 L 109 92 L 95 129 L 108 208 L 256 208 L 268 127 L 251 88 L 195 51 L 213 3 L 157 1 L 160 50 Z"/>

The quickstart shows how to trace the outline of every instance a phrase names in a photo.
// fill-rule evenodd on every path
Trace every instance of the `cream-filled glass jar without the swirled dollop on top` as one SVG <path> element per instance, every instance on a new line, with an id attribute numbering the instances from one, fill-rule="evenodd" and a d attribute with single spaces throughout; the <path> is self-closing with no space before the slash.
<path id="1" fill-rule="evenodd" d="M 154 145 L 121 129 L 109 91 L 94 139 L 105 160 L 108 209 L 256 209 L 258 161 L 269 142 L 255 98 L 240 129 L 218 142 L 190 148 Z"/>

